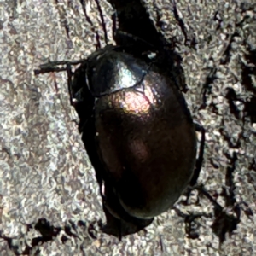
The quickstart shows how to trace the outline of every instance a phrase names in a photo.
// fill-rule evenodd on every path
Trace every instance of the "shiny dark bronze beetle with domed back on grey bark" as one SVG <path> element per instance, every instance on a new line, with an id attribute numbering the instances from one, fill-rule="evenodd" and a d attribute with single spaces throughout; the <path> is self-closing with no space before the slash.
<path id="1" fill-rule="evenodd" d="M 176 79 L 158 63 L 113 45 L 81 61 L 75 73 L 66 63 L 107 217 L 102 230 L 114 236 L 135 233 L 166 212 L 195 170 L 195 124 Z M 35 73 L 49 71 L 43 65 Z"/>

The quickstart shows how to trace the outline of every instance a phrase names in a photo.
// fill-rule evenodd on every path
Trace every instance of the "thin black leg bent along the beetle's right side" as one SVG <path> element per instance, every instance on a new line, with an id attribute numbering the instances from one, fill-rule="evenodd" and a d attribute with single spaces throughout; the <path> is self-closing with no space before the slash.
<path id="1" fill-rule="evenodd" d="M 195 183 L 197 181 L 197 178 L 199 177 L 200 171 L 201 171 L 201 166 L 202 166 L 202 162 L 204 160 L 204 148 L 205 148 L 205 128 L 201 125 L 199 125 L 198 123 L 194 123 L 195 124 L 195 131 L 201 131 L 201 143 L 200 143 L 200 148 L 199 148 L 199 155 L 198 158 L 196 160 L 195 163 L 195 171 L 193 174 L 193 177 L 191 178 L 190 181 L 190 186 L 193 187 L 195 186 Z"/>

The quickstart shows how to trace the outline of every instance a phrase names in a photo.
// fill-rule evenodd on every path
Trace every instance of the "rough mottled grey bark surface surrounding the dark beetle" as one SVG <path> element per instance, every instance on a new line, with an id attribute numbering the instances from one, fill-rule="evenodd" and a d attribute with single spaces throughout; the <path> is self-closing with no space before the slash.
<path id="1" fill-rule="evenodd" d="M 192 222 L 196 239 L 185 232 L 189 218 L 171 209 L 155 218 L 147 233 L 120 242 L 102 234 L 96 225 L 105 221 L 102 201 L 73 122 L 77 116 L 69 106 L 66 73 L 33 74 L 48 59 L 86 58 L 96 49 L 96 31 L 104 45 L 96 3 L 86 2 L 90 24 L 78 0 L 0 1 L 1 255 L 256 252 L 256 121 L 244 112 L 245 102 L 253 101 L 256 94 L 256 2 L 177 2 L 188 38 L 197 43 L 195 49 L 183 44 L 171 1 L 145 4 L 152 20 L 160 16 L 166 38 L 176 37 L 179 42 L 177 51 L 183 56 L 189 86 L 186 99 L 207 131 L 199 183 L 223 211 L 214 212 L 216 204 L 193 190 L 189 205 L 182 204 L 183 196 L 177 211 L 183 217 L 199 215 Z M 105 1 L 100 3 L 111 43 L 113 9 Z M 39 227 L 39 223 L 47 226 L 44 221 L 38 222 L 44 218 L 49 221 L 45 230 Z M 219 239 L 221 232 L 224 242 Z"/>

